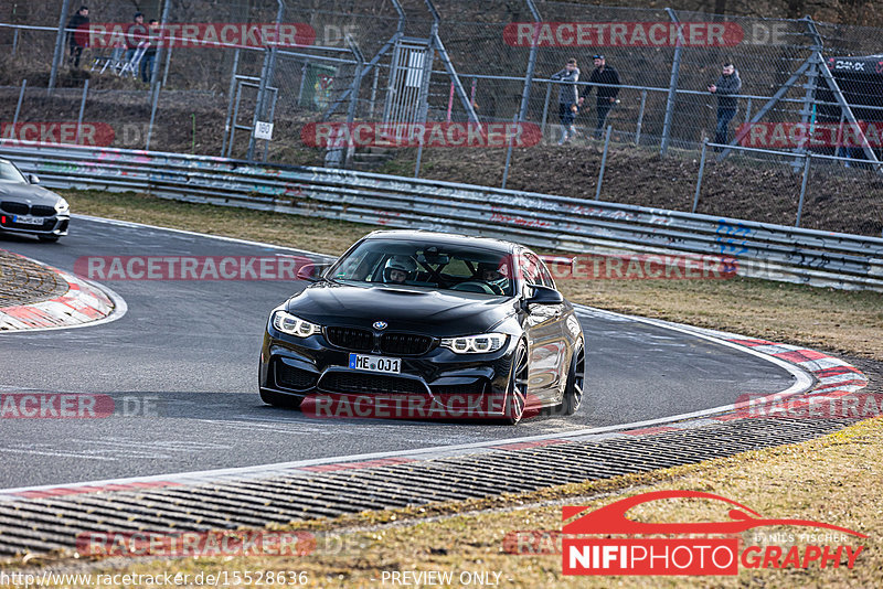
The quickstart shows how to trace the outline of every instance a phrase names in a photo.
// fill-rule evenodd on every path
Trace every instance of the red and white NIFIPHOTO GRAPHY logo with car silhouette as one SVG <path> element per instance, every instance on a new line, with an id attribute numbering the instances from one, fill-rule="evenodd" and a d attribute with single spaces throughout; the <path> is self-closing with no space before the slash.
<path id="1" fill-rule="evenodd" d="M 727 513 L 730 520 L 646 523 L 626 517 L 637 505 L 672 499 L 727 503 L 732 506 Z M 740 566 L 821 569 L 842 565 L 851 569 L 864 546 L 853 545 L 850 536 L 868 537 L 845 527 L 809 520 L 764 518 L 735 501 L 698 491 L 656 491 L 587 511 L 588 507 L 583 506 L 563 507 L 564 575 L 738 575 Z M 764 539 L 762 535 L 745 535 L 749 537 L 747 540 L 742 536 L 747 531 L 767 526 L 811 527 L 826 532 L 788 535 L 805 540 L 805 546 L 759 545 L 755 543 Z M 667 537 L 646 537 L 650 535 Z M 772 539 L 779 537 L 772 536 Z"/>

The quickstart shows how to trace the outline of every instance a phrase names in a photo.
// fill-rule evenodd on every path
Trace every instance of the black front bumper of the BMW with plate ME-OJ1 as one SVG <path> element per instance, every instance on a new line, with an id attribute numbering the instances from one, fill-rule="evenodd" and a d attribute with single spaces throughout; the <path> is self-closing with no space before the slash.
<path id="1" fill-rule="evenodd" d="M 269 326 L 260 350 L 259 387 L 300 399 L 333 397 L 360 406 L 416 411 L 408 417 L 421 417 L 418 408 L 450 409 L 450 415 L 440 411 L 439 416 L 451 418 L 502 415 L 515 347 L 511 336 L 507 345 L 489 354 L 455 354 L 435 342 L 426 353 L 407 356 L 337 347 L 325 333 L 300 339 Z M 351 353 L 400 357 L 401 374 L 350 368 Z"/>

